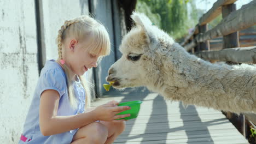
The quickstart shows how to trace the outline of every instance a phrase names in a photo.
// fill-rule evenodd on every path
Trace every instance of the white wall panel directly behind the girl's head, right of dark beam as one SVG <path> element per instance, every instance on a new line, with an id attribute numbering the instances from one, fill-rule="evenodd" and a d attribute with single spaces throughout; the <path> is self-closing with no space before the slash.
<path id="1" fill-rule="evenodd" d="M 43 64 L 47 59 L 57 59 L 56 38 L 66 20 L 89 14 L 88 1 L 44 0 L 40 1 L 40 23 Z"/>

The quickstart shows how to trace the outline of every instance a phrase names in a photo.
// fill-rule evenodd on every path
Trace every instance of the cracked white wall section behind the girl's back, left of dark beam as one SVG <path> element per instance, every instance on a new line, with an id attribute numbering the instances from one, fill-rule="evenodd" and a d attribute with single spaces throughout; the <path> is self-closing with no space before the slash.
<path id="1" fill-rule="evenodd" d="M 0 1 L 0 141 L 18 143 L 38 79 L 34 0 Z"/>

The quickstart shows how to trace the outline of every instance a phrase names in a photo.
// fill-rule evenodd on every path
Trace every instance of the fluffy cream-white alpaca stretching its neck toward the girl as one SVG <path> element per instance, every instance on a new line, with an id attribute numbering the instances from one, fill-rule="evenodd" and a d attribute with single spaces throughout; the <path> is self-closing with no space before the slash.
<path id="1" fill-rule="evenodd" d="M 235 113 L 256 113 L 256 67 L 212 64 L 190 55 L 144 14 L 133 13 L 123 56 L 109 69 L 114 88 L 146 86 L 168 100 Z M 170 23 L 171 25 L 171 23 Z"/>

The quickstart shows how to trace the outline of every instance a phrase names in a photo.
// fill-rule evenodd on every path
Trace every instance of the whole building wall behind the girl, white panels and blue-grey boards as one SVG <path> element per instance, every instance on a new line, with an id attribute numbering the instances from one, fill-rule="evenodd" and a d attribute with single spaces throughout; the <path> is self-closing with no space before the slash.
<path id="1" fill-rule="evenodd" d="M 36 3 L 35 3 L 36 2 Z M 0 141 L 18 143 L 36 87 L 40 69 L 47 59 L 57 59 L 57 33 L 65 20 L 89 14 L 109 32 L 112 52 L 98 68 L 88 71 L 98 96 L 104 93 L 107 70 L 117 58 L 122 17 L 118 0 L 2 0 L 0 1 Z M 91 5 L 90 5 L 91 4 Z M 114 8 L 114 9 L 113 9 Z M 114 15 L 114 16 L 113 16 Z M 117 20 L 118 19 L 118 20 Z M 113 23 L 114 22 L 114 23 Z M 123 28 L 124 30 L 124 28 Z M 122 31 L 123 31 L 122 30 Z"/>

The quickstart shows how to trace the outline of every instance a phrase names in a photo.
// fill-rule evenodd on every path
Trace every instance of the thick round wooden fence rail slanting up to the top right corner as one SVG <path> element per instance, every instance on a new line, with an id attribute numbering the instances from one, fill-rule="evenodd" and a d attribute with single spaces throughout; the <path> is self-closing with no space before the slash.
<path id="1" fill-rule="evenodd" d="M 256 0 L 243 5 L 225 17 L 216 27 L 206 33 L 196 36 L 197 43 L 214 39 L 222 35 L 228 35 L 242 29 L 246 29 L 256 24 Z"/>

